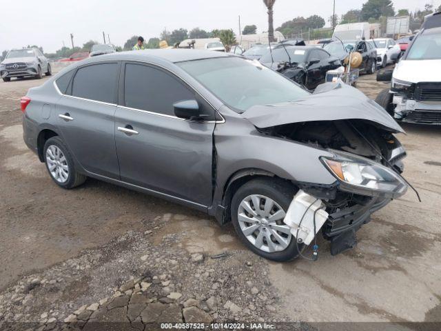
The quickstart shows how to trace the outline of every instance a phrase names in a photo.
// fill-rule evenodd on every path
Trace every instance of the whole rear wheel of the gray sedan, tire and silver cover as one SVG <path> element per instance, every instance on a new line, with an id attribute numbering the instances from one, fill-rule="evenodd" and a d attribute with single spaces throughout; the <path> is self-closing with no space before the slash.
<path id="1" fill-rule="evenodd" d="M 74 188 L 84 183 L 86 177 L 76 172 L 72 156 L 59 137 L 48 139 L 43 153 L 50 177 L 61 188 Z"/>

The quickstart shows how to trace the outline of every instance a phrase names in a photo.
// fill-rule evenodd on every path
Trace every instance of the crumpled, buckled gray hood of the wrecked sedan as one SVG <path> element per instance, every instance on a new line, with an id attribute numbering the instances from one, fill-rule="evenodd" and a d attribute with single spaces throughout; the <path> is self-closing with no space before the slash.
<path id="1" fill-rule="evenodd" d="M 298 101 L 253 106 L 242 116 L 257 128 L 308 121 L 363 119 L 378 123 L 391 132 L 404 132 L 378 103 L 342 81 L 323 83 L 313 94 Z"/>

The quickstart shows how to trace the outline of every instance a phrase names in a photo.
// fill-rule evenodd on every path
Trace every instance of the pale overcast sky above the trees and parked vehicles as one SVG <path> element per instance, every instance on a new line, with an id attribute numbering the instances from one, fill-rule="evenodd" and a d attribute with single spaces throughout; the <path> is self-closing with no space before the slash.
<path id="1" fill-rule="evenodd" d="M 361 9 L 367 0 L 336 0 L 336 14 Z M 441 0 L 393 0 L 394 8 L 416 10 L 425 3 L 434 8 Z M 317 14 L 327 19 L 333 0 L 277 0 L 274 5 L 274 28 L 294 17 Z M 148 40 L 158 37 L 164 28 L 191 30 L 199 27 L 242 28 L 255 24 L 258 32 L 267 30 L 267 12 L 262 0 L 1 0 L 0 52 L 27 45 L 42 46 L 45 52 L 82 46 L 90 39 L 102 42 L 103 31 L 110 41 L 123 46 L 133 35 Z M 327 22 L 327 26 L 329 23 Z"/>

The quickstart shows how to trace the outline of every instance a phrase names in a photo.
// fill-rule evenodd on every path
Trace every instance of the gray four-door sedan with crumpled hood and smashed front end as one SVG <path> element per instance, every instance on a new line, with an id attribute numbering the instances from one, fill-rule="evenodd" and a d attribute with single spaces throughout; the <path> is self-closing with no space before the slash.
<path id="1" fill-rule="evenodd" d="M 21 99 L 24 139 L 61 188 L 87 177 L 232 221 L 287 261 L 321 230 L 331 254 L 407 190 L 402 129 L 343 83 L 311 94 L 256 61 L 198 50 L 76 63 Z M 375 224 L 371 225 L 375 226 Z"/>

